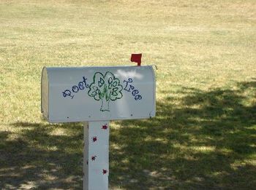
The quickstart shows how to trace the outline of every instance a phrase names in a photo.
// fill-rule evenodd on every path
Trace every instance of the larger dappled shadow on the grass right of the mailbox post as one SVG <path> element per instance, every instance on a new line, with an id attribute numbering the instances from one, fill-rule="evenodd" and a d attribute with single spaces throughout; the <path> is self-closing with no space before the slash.
<path id="1" fill-rule="evenodd" d="M 162 93 L 154 119 L 111 130 L 112 187 L 254 189 L 256 82 L 207 92 L 183 87 L 178 98 Z"/>

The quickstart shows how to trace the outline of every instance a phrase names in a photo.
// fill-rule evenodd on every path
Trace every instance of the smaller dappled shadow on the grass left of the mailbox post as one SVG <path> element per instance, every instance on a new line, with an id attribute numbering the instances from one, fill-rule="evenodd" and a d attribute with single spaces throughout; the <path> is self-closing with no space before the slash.
<path id="1" fill-rule="evenodd" d="M 0 189 L 82 189 L 81 124 L 12 126 L 20 129 L 15 140 L 0 133 Z"/>

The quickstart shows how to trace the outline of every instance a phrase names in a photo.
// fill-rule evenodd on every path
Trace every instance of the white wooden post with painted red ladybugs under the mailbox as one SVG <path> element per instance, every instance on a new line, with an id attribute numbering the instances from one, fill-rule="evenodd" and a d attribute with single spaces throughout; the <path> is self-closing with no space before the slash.
<path id="1" fill-rule="evenodd" d="M 109 121 L 84 123 L 83 190 L 108 189 L 109 134 Z"/>

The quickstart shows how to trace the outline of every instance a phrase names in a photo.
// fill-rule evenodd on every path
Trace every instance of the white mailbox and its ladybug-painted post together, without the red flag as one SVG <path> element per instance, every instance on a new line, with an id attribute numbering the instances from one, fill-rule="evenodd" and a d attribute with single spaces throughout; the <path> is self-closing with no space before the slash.
<path id="1" fill-rule="evenodd" d="M 155 116 L 154 70 L 45 67 L 41 111 L 48 122 L 84 122 L 83 189 L 108 189 L 110 120 Z"/>

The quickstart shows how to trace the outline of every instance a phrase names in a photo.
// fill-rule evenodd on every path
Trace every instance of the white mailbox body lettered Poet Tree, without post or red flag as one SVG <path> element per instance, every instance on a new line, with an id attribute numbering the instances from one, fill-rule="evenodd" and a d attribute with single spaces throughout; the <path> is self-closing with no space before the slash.
<path id="1" fill-rule="evenodd" d="M 146 119 L 156 113 L 152 66 L 45 67 L 41 91 L 48 122 Z"/>

